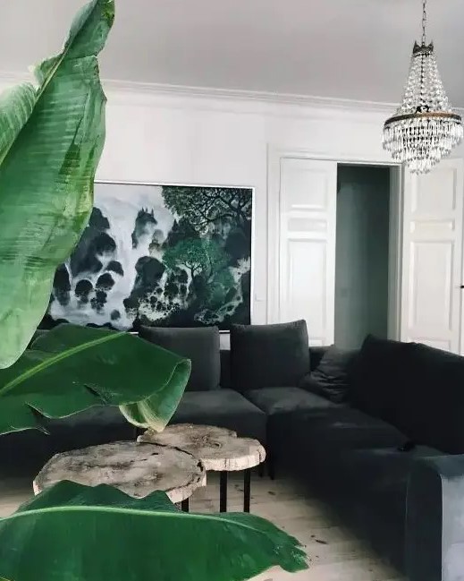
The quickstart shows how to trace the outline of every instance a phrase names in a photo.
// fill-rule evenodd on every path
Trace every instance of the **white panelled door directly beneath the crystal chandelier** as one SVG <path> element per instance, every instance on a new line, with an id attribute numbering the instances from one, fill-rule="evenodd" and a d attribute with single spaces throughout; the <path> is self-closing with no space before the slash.
<path id="1" fill-rule="evenodd" d="M 462 160 L 404 174 L 401 340 L 460 353 Z"/>

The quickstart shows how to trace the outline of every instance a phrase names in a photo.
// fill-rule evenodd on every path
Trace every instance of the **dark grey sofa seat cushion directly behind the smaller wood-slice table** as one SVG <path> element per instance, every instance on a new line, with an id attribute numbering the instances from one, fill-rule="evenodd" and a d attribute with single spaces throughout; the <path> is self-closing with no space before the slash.
<path id="1" fill-rule="evenodd" d="M 266 414 L 233 389 L 184 393 L 171 423 L 200 423 L 266 442 Z"/>

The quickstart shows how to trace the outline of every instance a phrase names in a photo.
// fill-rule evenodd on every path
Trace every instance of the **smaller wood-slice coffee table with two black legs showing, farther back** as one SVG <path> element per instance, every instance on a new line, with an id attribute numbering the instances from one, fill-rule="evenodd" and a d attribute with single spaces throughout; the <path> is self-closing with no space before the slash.
<path id="1" fill-rule="evenodd" d="M 139 442 L 151 442 L 173 446 L 190 452 L 201 460 L 206 470 L 220 473 L 220 511 L 227 511 L 227 474 L 244 471 L 243 510 L 249 512 L 251 493 L 251 468 L 266 459 L 266 450 L 257 440 L 238 438 L 237 433 L 215 426 L 178 423 L 157 433 L 148 430 L 138 438 Z"/>

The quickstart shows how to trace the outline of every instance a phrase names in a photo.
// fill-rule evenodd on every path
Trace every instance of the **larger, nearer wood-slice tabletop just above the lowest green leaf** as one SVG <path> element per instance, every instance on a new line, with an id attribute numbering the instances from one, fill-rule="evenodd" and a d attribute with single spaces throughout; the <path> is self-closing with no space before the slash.
<path id="1" fill-rule="evenodd" d="M 122 441 L 56 454 L 34 480 L 34 492 L 62 480 L 87 486 L 109 484 L 136 499 L 165 491 L 179 503 L 206 485 L 207 472 L 197 457 L 184 450 Z"/>

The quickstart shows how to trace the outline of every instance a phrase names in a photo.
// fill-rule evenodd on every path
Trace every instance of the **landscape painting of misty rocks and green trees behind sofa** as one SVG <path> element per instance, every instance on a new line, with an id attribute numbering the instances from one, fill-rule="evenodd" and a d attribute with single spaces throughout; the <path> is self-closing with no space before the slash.
<path id="1" fill-rule="evenodd" d="M 97 183 L 89 226 L 56 271 L 48 324 L 249 324 L 252 193 Z"/>

